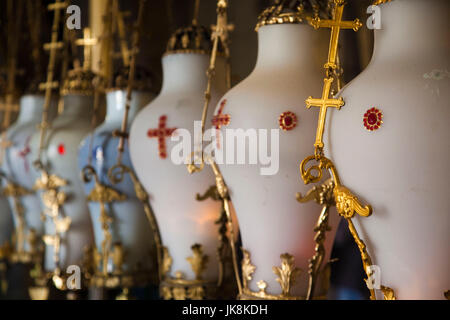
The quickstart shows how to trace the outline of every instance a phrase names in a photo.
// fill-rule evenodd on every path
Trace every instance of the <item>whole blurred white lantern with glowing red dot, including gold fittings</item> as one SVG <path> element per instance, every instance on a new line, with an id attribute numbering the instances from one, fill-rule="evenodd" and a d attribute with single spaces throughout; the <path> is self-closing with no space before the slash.
<path id="1" fill-rule="evenodd" d="M 93 242 L 89 208 L 77 167 L 78 146 L 90 131 L 95 75 L 85 68 L 71 70 L 63 84 L 64 109 L 47 129 L 43 164 L 48 171 L 35 176 L 34 189 L 42 199 L 46 217 L 46 271 L 53 272 L 58 289 L 65 289 L 63 273 L 82 265 L 84 248 Z M 31 139 L 37 159 L 40 134 Z"/>

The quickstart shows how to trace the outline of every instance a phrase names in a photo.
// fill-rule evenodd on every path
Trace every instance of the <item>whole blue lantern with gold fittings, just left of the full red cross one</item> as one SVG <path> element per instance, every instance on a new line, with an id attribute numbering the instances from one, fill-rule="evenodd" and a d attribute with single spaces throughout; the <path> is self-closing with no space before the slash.
<path id="1" fill-rule="evenodd" d="M 94 266 L 91 280 L 96 287 L 142 287 L 150 280 L 157 281 L 151 230 L 133 180 L 127 175 L 122 182 L 113 184 L 108 176 L 117 164 L 119 136 L 116 133 L 121 129 L 125 113 L 128 73 L 129 68 L 123 68 L 115 77 L 114 86 L 106 93 L 105 121 L 93 136 L 83 140 L 79 151 L 79 168 L 90 180 L 84 189 L 94 227 L 94 255 L 98 257 L 94 260 L 99 262 Z M 138 69 L 135 77 L 128 126 L 139 109 L 154 97 L 149 73 Z M 127 145 L 121 162 L 132 170 Z"/>

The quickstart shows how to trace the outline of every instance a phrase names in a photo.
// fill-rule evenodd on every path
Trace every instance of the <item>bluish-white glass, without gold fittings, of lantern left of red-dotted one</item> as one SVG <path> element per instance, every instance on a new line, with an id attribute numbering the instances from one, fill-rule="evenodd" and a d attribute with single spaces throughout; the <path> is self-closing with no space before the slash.
<path id="1" fill-rule="evenodd" d="M 8 129 L 7 139 L 11 146 L 5 151 L 3 170 L 10 183 L 26 189 L 28 192 L 19 197 L 19 203 L 24 213 L 24 240 L 30 236 L 31 229 L 36 231 L 36 235 L 41 237 L 44 234 L 44 223 L 41 219 L 41 203 L 39 196 L 34 193 L 35 168 L 31 157 L 30 142 L 33 134 L 38 132 L 38 124 L 41 122 L 42 110 L 44 107 L 44 96 L 29 94 L 20 100 L 20 114 L 17 121 Z M 55 108 L 51 106 L 49 117 L 54 117 Z M 6 187 L 8 181 L 4 181 Z M 14 213 L 14 224 L 18 228 L 18 215 L 12 197 L 8 198 L 11 211 Z M 16 248 L 19 249 L 19 248 Z M 24 242 L 23 250 L 30 250 L 29 242 Z"/>

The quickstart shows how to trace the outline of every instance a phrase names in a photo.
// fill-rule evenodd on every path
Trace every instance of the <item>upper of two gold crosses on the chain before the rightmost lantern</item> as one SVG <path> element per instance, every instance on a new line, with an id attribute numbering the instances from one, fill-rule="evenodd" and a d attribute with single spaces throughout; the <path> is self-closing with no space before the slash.
<path id="1" fill-rule="evenodd" d="M 309 23 L 314 29 L 331 28 L 330 46 L 328 51 L 328 61 L 325 64 L 325 69 L 336 69 L 337 49 L 339 43 L 339 32 L 341 29 L 353 29 L 358 31 L 362 27 L 361 21 L 355 19 L 353 21 L 342 21 L 342 14 L 344 12 L 345 0 L 334 0 L 335 8 L 332 20 L 321 20 L 319 17 L 310 19 Z"/>

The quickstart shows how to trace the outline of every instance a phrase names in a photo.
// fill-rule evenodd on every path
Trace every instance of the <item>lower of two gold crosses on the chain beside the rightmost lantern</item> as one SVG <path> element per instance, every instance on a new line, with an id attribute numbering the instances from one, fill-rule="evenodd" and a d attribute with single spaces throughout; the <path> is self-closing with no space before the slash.
<path id="1" fill-rule="evenodd" d="M 327 117 L 327 109 L 328 108 L 337 108 L 338 110 L 341 109 L 341 107 L 344 105 L 344 100 L 342 97 L 339 99 L 333 99 L 330 98 L 330 90 L 331 90 L 331 84 L 333 83 L 333 78 L 325 78 L 324 79 L 324 86 L 322 91 L 322 98 L 321 99 L 314 99 L 312 97 L 309 97 L 306 99 L 306 108 L 311 107 L 319 107 L 320 113 L 319 113 L 319 123 L 317 125 L 317 133 L 316 133 L 316 142 L 314 143 L 314 146 L 319 149 L 323 149 L 323 132 L 325 129 L 325 120 Z"/>

